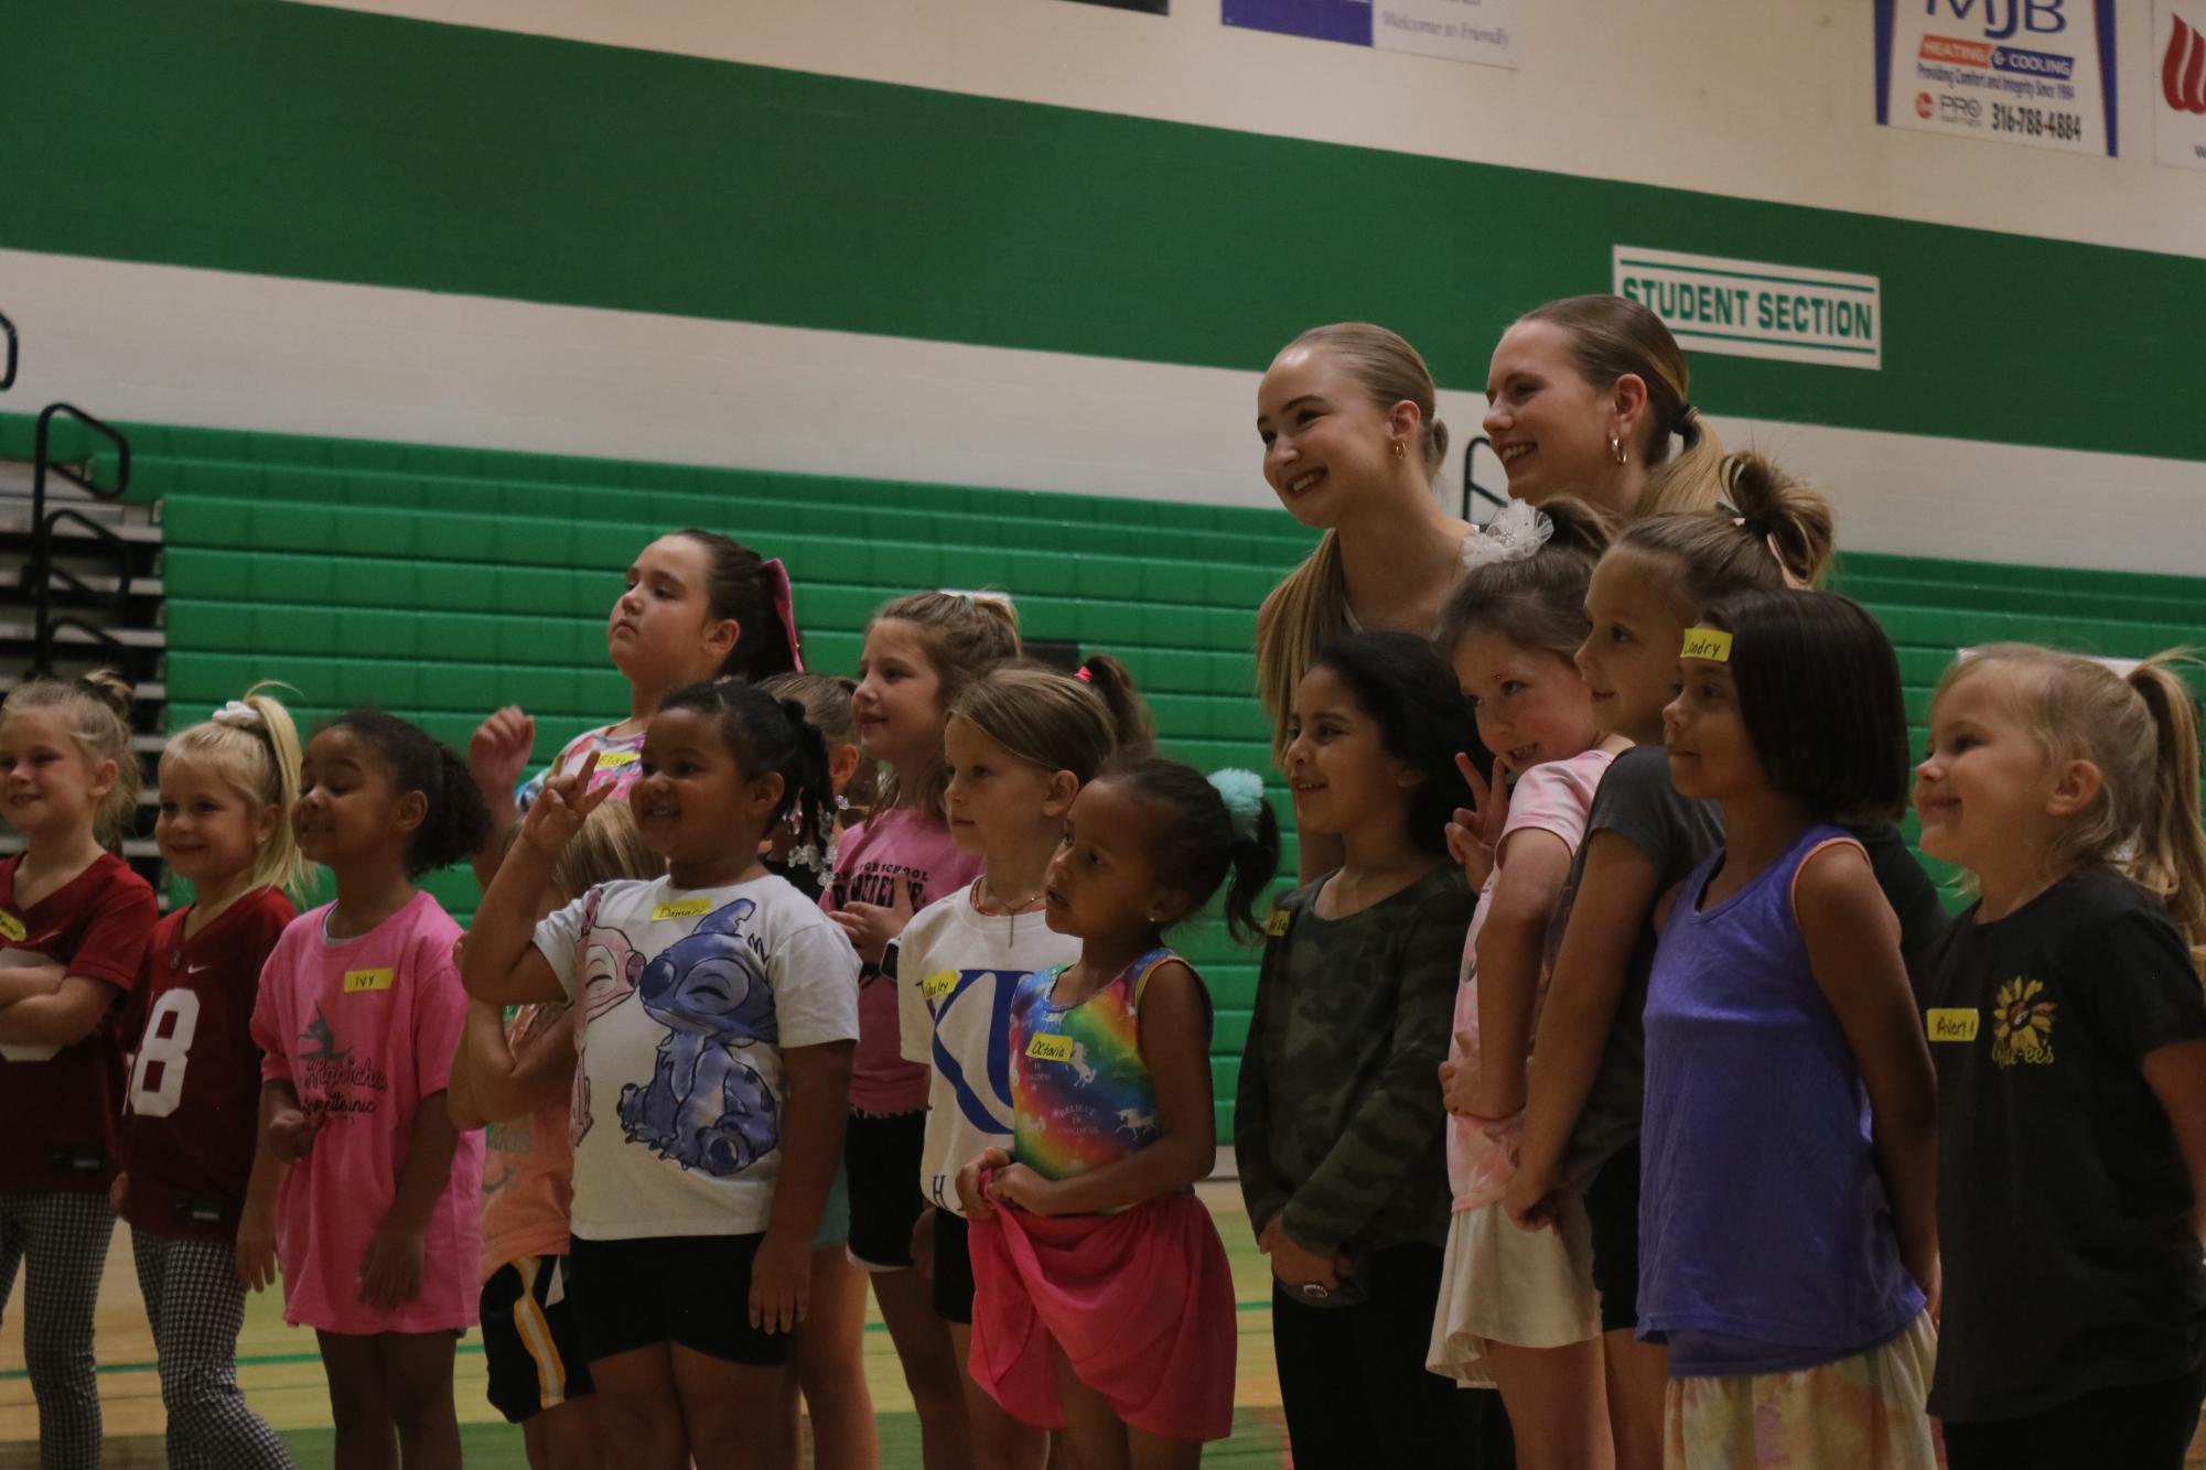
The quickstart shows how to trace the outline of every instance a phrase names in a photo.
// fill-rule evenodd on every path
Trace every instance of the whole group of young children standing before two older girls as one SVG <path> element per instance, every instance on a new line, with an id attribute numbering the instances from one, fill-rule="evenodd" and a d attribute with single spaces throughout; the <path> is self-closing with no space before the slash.
<path id="1" fill-rule="evenodd" d="M 1915 765 L 1897 659 L 1807 591 L 1829 507 L 1568 498 L 1436 639 L 1352 633 L 1282 765 L 1339 866 L 1273 899 L 1249 771 L 1008 599 L 803 670 L 779 562 L 646 547 L 624 718 L 529 776 L 265 690 L 176 734 L 161 917 L 113 857 L 128 692 L 0 712 L 0 1294 L 49 1466 L 95 1466 L 130 1221 L 176 1466 L 285 1466 L 245 1291 L 313 1327 L 338 1466 L 457 1466 L 457 1333 L 538 1468 L 878 1459 L 871 1287 L 929 1468 L 1191 1466 L 1231 1433 L 1211 996 L 1262 945 L 1235 1157 L 1304 1470 L 2180 1463 L 2206 1397 L 2195 705 L 1974 650 Z M 417 884 L 474 862 L 472 928 Z M 296 915 L 309 864 L 335 899 Z M 1496 1384 L 1507 1415 L 1487 1413 Z M 1513 1448 L 1511 1448 L 1513 1437 Z"/>

